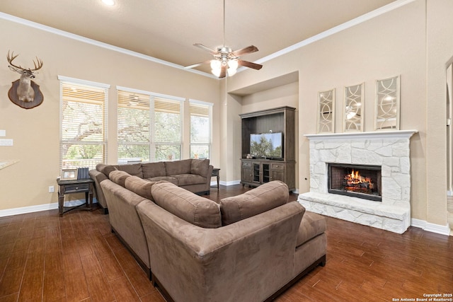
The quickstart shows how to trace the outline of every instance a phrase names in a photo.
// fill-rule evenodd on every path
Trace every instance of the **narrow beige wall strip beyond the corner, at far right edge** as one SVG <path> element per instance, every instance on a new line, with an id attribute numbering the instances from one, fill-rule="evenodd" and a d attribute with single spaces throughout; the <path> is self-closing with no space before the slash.
<path id="1" fill-rule="evenodd" d="M 425 219 L 445 225 L 447 219 L 446 78 L 453 58 L 453 1 L 427 1 L 427 194 Z"/>

